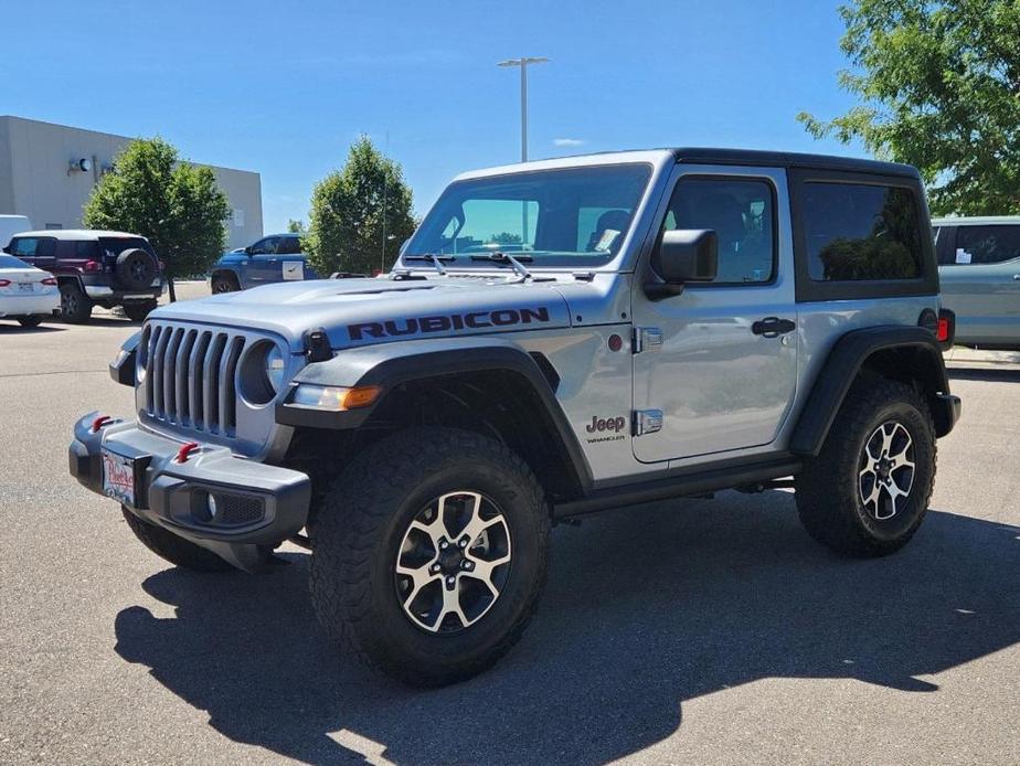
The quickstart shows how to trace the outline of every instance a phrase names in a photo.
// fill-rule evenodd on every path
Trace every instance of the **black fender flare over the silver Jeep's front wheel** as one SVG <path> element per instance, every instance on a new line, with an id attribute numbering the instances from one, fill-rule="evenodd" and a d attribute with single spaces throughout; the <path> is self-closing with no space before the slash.
<path id="1" fill-rule="evenodd" d="M 358 428 L 386 394 L 400 385 L 471 372 L 507 372 L 524 380 L 538 402 L 536 412 L 529 416 L 545 421 L 544 425 L 557 439 L 557 447 L 572 465 L 581 488 L 588 491 L 593 485 L 592 469 L 556 400 L 555 371 L 543 369 L 530 353 L 500 339 L 449 338 L 346 349 L 330 360 L 309 364 L 295 375 L 290 391 L 276 405 L 276 422 L 306 428 Z M 379 386 L 382 393 L 368 407 L 323 412 L 290 404 L 294 389 L 300 383 Z"/>

